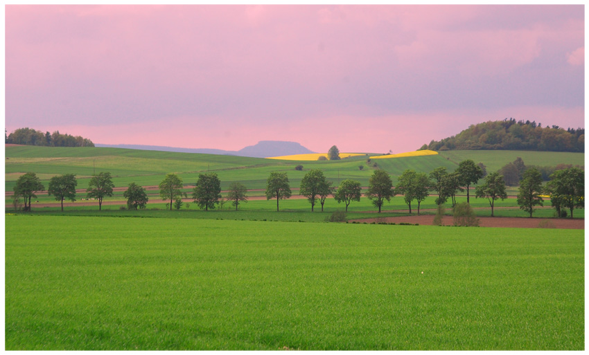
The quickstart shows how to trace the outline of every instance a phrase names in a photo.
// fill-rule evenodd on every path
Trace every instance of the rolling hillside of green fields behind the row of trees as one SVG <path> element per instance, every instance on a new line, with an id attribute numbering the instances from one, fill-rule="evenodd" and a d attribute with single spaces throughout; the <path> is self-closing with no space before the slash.
<path id="1" fill-rule="evenodd" d="M 290 185 L 298 187 L 304 174 L 310 169 L 321 169 L 335 185 L 342 179 L 356 179 L 366 186 L 377 167 L 392 175 L 395 182 L 406 169 L 430 172 L 445 166 L 452 171 L 466 158 L 482 162 L 489 172 L 521 156 L 527 165 L 556 165 L 568 163 L 584 165 L 583 153 L 563 152 L 518 152 L 518 151 L 452 151 L 439 155 L 405 158 L 373 159 L 367 163 L 366 156 L 345 158 L 340 161 L 281 161 L 276 159 L 247 158 L 243 156 L 155 152 L 137 149 L 104 147 L 6 147 L 5 187 L 12 191 L 18 176 L 35 172 L 46 185 L 51 176 L 76 174 L 78 188 L 86 188 L 89 177 L 98 172 L 111 172 L 116 186 L 131 182 L 140 185 L 158 185 L 168 172 L 182 177 L 185 184 L 193 184 L 202 172 L 216 172 L 222 188 L 239 181 L 249 189 L 263 189 L 267 176 L 273 171 L 288 172 Z M 373 167 L 376 163 L 377 167 Z M 294 170 L 303 165 L 303 171 Z M 363 165 L 363 170 L 358 168 Z"/>

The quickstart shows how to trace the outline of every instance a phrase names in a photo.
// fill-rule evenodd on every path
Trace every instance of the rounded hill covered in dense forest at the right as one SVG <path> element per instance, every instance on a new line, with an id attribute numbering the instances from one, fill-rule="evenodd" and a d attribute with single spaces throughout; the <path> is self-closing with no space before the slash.
<path id="1" fill-rule="evenodd" d="M 432 140 L 421 149 L 430 150 L 538 150 L 549 152 L 585 152 L 585 129 L 542 127 L 535 121 L 488 121 L 471 125 L 456 136 Z"/>

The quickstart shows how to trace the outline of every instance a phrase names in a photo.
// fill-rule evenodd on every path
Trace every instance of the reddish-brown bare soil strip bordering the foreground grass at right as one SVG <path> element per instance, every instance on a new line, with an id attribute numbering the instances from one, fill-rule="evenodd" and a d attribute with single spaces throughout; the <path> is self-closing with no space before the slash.
<path id="1" fill-rule="evenodd" d="M 585 219 L 560 219 L 560 218 L 520 218 L 520 217 L 479 217 L 481 227 L 503 228 L 563 228 L 585 229 Z M 432 226 L 434 215 L 403 216 L 403 217 L 378 217 L 369 219 L 355 219 L 356 222 L 367 223 L 410 223 L 423 226 Z M 452 225 L 452 217 L 445 216 L 442 219 L 445 226 Z"/>

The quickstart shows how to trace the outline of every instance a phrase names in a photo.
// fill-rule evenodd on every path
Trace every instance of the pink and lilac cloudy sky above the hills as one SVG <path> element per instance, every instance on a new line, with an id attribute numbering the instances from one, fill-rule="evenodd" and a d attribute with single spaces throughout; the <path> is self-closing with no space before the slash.
<path id="1" fill-rule="evenodd" d="M 584 127 L 584 6 L 14 6 L 6 122 L 94 143 L 405 152 Z"/>

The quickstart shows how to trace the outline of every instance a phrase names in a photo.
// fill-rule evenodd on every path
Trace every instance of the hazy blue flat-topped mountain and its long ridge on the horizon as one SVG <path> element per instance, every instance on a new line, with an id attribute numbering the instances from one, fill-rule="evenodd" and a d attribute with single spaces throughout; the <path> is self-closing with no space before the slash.
<path id="1" fill-rule="evenodd" d="M 315 153 L 303 147 L 299 143 L 285 142 L 282 140 L 261 140 L 256 145 L 249 145 L 238 151 L 222 149 L 192 149 L 177 147 L 161 147 L 158 145 L 132 145 L 132 144 L 96 144 L 96 147 L 126 148 L 141 150 L 156 150 L 160 152 L 178 152 L 178 153 L 200 153 L 200 154 L 219 154 L 219 155 L 236 155 L 248 156 L 250 158 L 268 158 L 270 156 L 283 156 L 292 154 L 311 154 Z"/>

